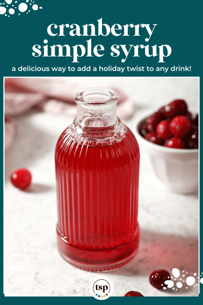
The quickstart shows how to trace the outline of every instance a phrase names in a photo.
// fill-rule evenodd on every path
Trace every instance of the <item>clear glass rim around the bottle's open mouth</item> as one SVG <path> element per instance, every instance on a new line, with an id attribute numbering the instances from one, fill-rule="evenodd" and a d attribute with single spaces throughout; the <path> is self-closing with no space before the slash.
<path id="1" fill-rule="evenodd" d="M 86 106 L 112 105 L 118 100 L 116 91 L 100 87 L 82 89 L 75 95 L 75 102 Z"/>

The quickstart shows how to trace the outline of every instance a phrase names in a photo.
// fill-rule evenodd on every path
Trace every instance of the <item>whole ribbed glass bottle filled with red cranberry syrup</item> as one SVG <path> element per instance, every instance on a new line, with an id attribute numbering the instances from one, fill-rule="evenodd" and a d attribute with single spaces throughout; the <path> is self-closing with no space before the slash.
<path id="1" fill-rule="evenodd" d="M 78 116 L 55 150 L 61 256 L 89 271 L 120 267 L 138 250 L 139 147 L 116 117 L 113 90 L 75 95 Z"/>

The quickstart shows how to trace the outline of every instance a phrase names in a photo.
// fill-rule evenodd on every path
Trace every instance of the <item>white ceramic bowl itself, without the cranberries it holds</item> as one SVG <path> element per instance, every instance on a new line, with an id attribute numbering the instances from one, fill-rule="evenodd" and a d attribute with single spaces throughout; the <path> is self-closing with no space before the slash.
<path id="1" fill-rule="evenodd" d="M 198 149 L 177 149 L 154 144 L 139 134 L 143 121 L 153 113 L 140 113 L 133 131 L 138 141 L 140 153 L 150 159 L 152 169 L 161 184 L 176 193 L 191 193 L 198 190 Z"/>

